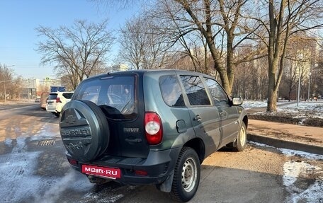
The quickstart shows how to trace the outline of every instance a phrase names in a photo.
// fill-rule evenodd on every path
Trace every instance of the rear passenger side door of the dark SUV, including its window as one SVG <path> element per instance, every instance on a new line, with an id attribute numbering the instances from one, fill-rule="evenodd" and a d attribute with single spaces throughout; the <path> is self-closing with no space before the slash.
<path id="1" fill-rule="evenodd" d="M 180 78 L 186 92 L 193 129 L 204 140 L 208 156 L 220 143 L 219 112 L 212 106 L 200 76 L 181 75 Z"/>

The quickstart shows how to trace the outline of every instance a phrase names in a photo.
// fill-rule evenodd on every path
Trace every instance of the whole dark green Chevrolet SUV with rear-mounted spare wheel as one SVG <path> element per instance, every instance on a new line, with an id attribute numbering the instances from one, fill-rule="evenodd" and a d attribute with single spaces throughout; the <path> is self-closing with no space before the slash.
<path id="1" fill-rule="evenodd" d="M 243 151 L 248 117 L 212 77 L 137 70 L 82 81 L 64 105 L 67 160 L 91 182 L 154 184 L 180 202 L 198 190 L 200 164 L 223 146 Z"/>

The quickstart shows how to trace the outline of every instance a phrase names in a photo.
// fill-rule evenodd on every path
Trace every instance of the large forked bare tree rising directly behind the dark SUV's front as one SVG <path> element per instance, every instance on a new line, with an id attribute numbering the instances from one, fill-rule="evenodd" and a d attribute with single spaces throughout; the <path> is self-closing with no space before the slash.
<path id="1" fill-rule="evenodd" d="M 243 60 L 234 57 L 236 48 L 249 39 L 249 33 L 257 29 L 252 27 L 251 21 L 250 24 L 240 21 L 244 4 L 244 0 L 164 0 L 159 1 L 156 6 L 157 17 L 164 18 L 166 22 L 173 22 L 173 27 L 168 29 L 173 33 L 174 43 L 196 32 L 203 36 L 200 47 L 203 47 L 205 42 L 208 47 L 205 50 L 208 50 L 212 57 L 212 69 L 219 73 L 222 86 L 229 94 L 234 83 L 234 66 L 252 59 L 252 55 L 244 57 Z M 191 47 L 186 50 L 191 50 Z"/>

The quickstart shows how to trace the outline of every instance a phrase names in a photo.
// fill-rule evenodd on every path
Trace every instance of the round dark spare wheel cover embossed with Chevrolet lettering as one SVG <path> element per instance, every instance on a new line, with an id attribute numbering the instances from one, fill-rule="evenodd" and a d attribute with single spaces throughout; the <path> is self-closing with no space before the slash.
<path id="1" fill-rule="evenodd" d="M 110 138 L 106 116 L 89 100 L 72 100 L 64 105 L 60 134 L 68 153 L 79 161 L 101 156 Z"/>

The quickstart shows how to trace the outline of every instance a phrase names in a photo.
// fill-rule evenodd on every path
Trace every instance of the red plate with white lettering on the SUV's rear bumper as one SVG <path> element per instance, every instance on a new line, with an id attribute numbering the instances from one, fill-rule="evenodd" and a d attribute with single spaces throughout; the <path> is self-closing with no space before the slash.
<path id="1" fill-rule="evenodd" d="M 120 168 L 108 168 L 102 166 L 82 165 L 82 173 L 88 175 L 98 175 L 106 178 L 121 178 Z"/>

